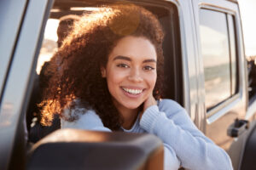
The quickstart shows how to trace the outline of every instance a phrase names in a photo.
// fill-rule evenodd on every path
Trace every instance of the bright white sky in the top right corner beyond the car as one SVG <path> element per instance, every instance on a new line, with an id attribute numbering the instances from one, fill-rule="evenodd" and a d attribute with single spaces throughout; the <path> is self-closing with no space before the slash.
<path id="1" fill-rule="evenodd" d="M 256 0 L 238 0 L 241 12 L 245 54 L 256 55 Z"/>

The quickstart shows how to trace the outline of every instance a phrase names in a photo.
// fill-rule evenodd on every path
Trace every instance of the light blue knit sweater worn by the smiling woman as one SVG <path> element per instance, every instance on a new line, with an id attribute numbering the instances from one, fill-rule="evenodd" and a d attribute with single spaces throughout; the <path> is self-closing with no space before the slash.
<path id="1" fill-rule="evenodd" d="M 108 131 L 95 111 L 75 108 L 81 115 L 76 122 L 61 119 L 61 128 L 80 128 L 87 130 Z M 70 116 L 73 111 L 64 111 Z M 83 114 L 83 112 L 86 112 Z M 165 169 L 178 169 L 182 166 L 195 170 L 230 170 L 233 169 L 230 157 L 212 140 L 201 133 L 190 120 L 187 112 L 171 99 L 161 99 L 158 105 L 148 107 L 141 120 L 137 118 L 127 133 L 152 133 L 159 137 L 165 147 Z"/>

